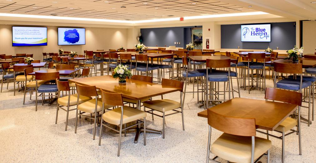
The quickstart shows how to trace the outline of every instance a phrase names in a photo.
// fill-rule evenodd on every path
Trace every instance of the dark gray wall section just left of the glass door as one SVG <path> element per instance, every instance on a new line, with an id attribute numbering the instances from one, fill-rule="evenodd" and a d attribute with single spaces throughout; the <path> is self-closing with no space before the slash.
<path id="1" fill-rule="evenodd" d="M 166 28 L 142 28 L 143 44 L 146 46 L 166 47 L 174 46 L 174 42 L 180 42 L 176 47 L 184 47 L 191 42 L 192 27 L 166 27 Z M 198 26 L 201 27 L 201 26 Z"/>

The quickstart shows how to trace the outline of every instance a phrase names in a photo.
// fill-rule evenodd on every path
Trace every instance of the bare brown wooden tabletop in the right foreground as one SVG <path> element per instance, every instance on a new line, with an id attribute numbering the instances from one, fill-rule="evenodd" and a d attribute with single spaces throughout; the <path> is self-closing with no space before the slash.
<path id="1" fill-rule="evenodd" d="M 256 128 L 272 131 L 297 107 L 282 102 L 234 98 L 209 109 L 229 117 L 255 118 Z M 197 113 L 197 116 L 207 118 L 207 110 Z"/>

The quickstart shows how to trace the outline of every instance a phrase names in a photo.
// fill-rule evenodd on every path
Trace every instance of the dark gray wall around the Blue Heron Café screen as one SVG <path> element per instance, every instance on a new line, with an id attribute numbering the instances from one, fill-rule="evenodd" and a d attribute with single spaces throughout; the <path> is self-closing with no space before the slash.
<path id="1" fill-rule="evenodd" d="M 262 23 L 271 24 L 271 42 L 241 42 L 242 24 L 221 25 L 221 48 L 222 49 L 272 49 L 289 50 L 296 44 L 295 22 Z M 258 23 L 259 24 L 259 23 Z"/>

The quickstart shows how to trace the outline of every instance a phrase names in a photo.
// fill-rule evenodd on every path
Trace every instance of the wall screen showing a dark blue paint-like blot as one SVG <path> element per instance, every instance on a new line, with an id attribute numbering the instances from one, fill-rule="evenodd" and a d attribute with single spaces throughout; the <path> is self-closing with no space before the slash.
<path id="1" fill-rule="evenodd" d="M 58 45 L 85 45 L 85 28 L 58 28 Z"/>

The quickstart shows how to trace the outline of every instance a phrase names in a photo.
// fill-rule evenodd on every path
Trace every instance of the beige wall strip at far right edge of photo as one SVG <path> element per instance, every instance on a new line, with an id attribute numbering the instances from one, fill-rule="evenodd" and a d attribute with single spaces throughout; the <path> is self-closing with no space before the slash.
<path id="1" fill-rule="evenodd" d="M 316 52 L 316 21 L 303 21 L 304 54 Z"/>

